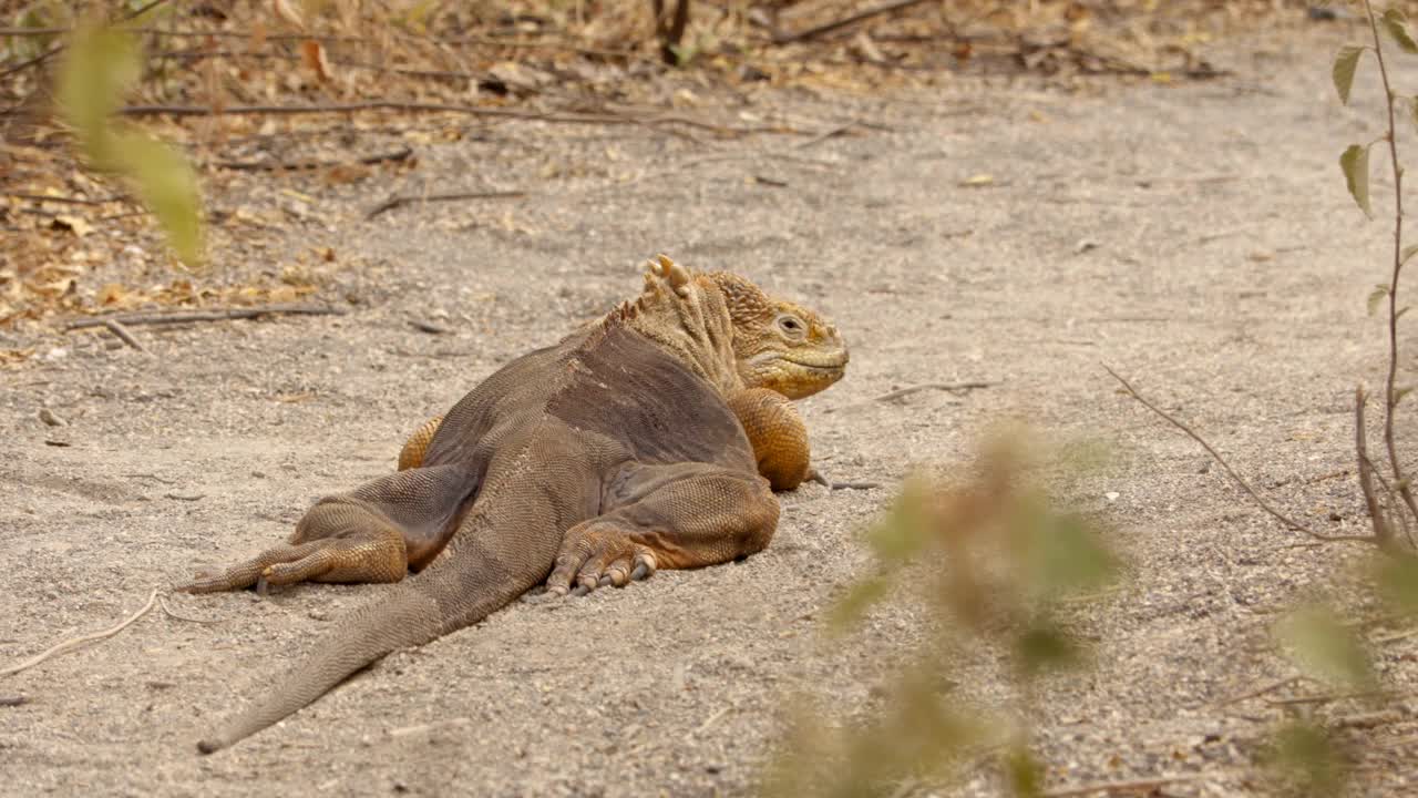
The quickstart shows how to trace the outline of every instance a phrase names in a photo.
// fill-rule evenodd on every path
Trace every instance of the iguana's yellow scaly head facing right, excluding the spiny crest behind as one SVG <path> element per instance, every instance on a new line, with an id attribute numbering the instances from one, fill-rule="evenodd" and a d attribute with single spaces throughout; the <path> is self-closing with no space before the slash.
<path id="1" fill-rule="evenodd" d="M 801 399 L 842 379 L 848 354 L 837 327 L 803 305 L 769 297 L 737 274 L 706 277 L 729 304 L 733 354 L 744 385 Z"/>

